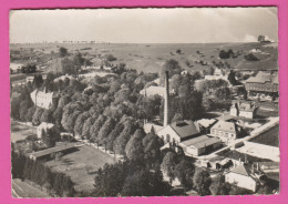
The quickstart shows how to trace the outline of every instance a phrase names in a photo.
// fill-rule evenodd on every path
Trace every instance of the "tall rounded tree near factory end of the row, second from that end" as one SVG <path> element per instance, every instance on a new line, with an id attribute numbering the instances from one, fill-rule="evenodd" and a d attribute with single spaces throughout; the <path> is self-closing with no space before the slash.
<path id="1" fill-rule="evenodd" d="M 132 161 L 141 161 L 144 157 L 144 150 L 142 145 L 142 140 L 144 137 L 144 132 L 137 129 L 135 133 L 131 136 L 126 144 L 125 153 L 126 156 Z"/>

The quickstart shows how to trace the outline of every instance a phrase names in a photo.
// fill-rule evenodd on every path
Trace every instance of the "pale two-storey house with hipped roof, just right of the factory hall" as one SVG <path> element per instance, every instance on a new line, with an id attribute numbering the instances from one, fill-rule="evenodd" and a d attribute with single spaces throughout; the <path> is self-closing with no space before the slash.
<path id="1" fill-rule="evenodd" d="M 238 139 L 239 134 L 240 128 L 235 122 L 220 120 L 210 129 L 210 135 L 220 139 L 226 144 Z"/>

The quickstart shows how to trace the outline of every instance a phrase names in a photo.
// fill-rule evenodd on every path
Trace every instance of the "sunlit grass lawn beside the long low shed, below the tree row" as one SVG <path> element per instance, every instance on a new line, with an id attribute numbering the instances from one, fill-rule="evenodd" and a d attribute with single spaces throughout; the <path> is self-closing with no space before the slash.
<path id="1" fill-rule="evenodd" d="M 95 171 L 104 164 L 115 163 L 113 156 L 93 146 L 81 146 L 78 151 L 63 155 L 59 161 L 48 161 L 45 164 L 52 171 L 63 172 L 71 176 L 76 191 L 91 192 L 93 190 Z"/>

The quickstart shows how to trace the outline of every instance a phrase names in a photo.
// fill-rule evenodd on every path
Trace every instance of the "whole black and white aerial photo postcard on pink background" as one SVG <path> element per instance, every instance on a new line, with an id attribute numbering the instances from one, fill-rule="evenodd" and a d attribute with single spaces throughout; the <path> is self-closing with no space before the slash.
<path id="1" fill-rule="evenodd" d="M 277 14 L 11 10 L 12 196 L 279 194 Z"/>

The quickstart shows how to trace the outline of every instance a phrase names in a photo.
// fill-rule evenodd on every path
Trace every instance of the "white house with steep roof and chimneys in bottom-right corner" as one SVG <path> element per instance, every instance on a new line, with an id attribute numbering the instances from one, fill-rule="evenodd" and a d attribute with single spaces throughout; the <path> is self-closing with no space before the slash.
<path id="1" fill-rule="evenodd" d="M 230 172 L 225 174 L 225 182 L 256 192 L 258 185 L 260 184 L 260 178 L 264 175 L 265 174 L 259 171 L 258 165 L 257 169 L 255 169 L 254 164 L 248 166 L 246 163 L 244 163 L 237 165 Z"/>

